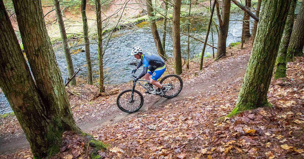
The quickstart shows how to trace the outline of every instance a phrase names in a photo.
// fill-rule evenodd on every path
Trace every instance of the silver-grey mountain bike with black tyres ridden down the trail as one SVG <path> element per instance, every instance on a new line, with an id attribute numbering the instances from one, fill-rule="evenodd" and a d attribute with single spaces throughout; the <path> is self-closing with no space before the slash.
<path id="1" fill-rule="evenodd" d="M 133 78 L 136 78 L 134 74 L 132 74 L 132 76 Z M 141 82 L 146 83 L 143 84 Z M 117 97 L 116 103 L 118 108 L 126 113 L 136 112 L 143 106 L 143 95 L 138 90 L 135 90 L 136 83 L 147 90 L 150 94 L 161 94 L 160 88 L 157 88 L 156 86 L 153 86 L 152 89 L 149 88 L 147 83 L 150 84 L 150 81 L 138 79 L 136 82 L 133 82 L 132 89 L 124 90 Z M 168 88 L 168 91 L 163 96 L 165 98 L 173 98 L 177 96 L 183 88 L 181 77 L 175 74 L 164 76 L 159 83 Z"/>

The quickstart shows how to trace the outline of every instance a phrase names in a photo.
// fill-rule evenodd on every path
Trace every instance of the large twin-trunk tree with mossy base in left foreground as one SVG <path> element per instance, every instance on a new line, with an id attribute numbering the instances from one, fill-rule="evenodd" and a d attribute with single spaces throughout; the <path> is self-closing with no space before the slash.
<path id="1" fill-rule="evenodd" d="M 59 152 L 64 131 L 81 133 L 81 130 L 71 112 L 45 28 L 41 2 L 14 0 L 13 4 L 35 82 L 2 3 L 0 67 L 3 76 L 0 77 L 0 84 L 26 134 L 34 157 L 42 158 Z"/>

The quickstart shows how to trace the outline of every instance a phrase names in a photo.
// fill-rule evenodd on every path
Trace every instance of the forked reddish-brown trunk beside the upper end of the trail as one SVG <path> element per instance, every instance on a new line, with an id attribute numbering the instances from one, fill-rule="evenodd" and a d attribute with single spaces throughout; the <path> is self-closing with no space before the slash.
<path id="1" fill-rule="evenodd" d="M 216 58 L 226 56 L 226 40 L 229 30 L 229 18 L 230 18 L 230 0 L 222 1 L 222 12 L 219 13 L 219 3 L 216 3 L 216 12 L 219 19 L 219 31 L 217 42 Z"/>

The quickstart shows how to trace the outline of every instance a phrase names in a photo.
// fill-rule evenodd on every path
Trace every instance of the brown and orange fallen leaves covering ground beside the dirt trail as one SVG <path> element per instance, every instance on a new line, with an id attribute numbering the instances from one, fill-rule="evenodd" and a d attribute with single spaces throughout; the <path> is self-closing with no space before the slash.
<path id="1" fill-rule="evenodd" d="M 222 68 L 228 69 L 236 63 L 237 58 L 242 58 L 246 63 L 250 52 L 248 49 L 237 50 L 233 55 L 216 62 L 207 60 L 208 66 L 205 65 L 204 70 L 196 77 L 194 73 L 184 76 L 184 84 L 190 87 L 188 91 L 194 92 L 191 96 L 176 97 L 156 108 L 146 108 L 136 115 L 87 132 L 111 145 L 107 150 L 100 151 L 100 156 L 160 159 L 304 158 L 304 58 L 299 57 L 295 63 L 287 63 L 286 78 L 271 80 L 267 97 L 272 107 L 242 111 L 228 118 L 225 115 L 235 107 L 244 71 L 240 74 L 228 72 L 233 75 L 228 82 L 219 80 L 212 85 L 205 83 L 206 87 L 211 86 L 208 91 L 200 92 L 201 90 L 196 90 L 195 87 L 191 88 L 191 85 L 193 86 L 197 79 L 202 79 L 203 84 L 204 79 L 216 77 Z M 195 70 L 189 70 L 191 71 Z M 112 102 L 115 99 L 116 97 L 99 99 L 98 102 L 104 104 L 103 107 L 96 106 L 95 112 L 114 105 Z M 73 101 L 73 98 L 71 100 Z M 71 103 L 76 105 L 76 101 L 75 99 Z M 93 102 L 91 107 L 94 108 L 94 105 L 96 104 Z M 74 106 L 73 114 L 76 114 L 75 120 L 78 123 L 89 119 L 85 109 L 79 107 L 78 113 L 75 113 L 76 107 L 79 106 Z M 92 108 L 86 111 L 94 112 Z M 84 154 L 81 141 L 78 142 L 78 147 L 77 151 Z M 20 154 L 28 155 L 30 151 L 22 151 Z M 69 155 L 73 156 L 73 153 Z M 74 153 L 74 156 L 76 155 Z"/>

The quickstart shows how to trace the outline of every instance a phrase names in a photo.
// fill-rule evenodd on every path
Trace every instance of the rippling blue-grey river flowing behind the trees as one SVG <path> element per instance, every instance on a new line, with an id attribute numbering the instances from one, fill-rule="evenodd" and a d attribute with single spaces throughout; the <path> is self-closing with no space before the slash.
<path id="1" fill-rule="evenodd" d="M 227 46 L 232 42 L 240 41 L 242 24 L 241 21 L 237 21 L 242 19 L 242 14 L 232 14 L 230 16 L 230 25 L 229 32 L 227 37 Z M 185 19 L 181 19 L 181 24 L 185 24 Z M 207 26 L 209 19 L 204 20 L 192 20 L 191 22 L 191 33 L 190 35 L 198 38 L 202 41 L 205 40 Z M 158 24 L 162 24 L 163 20 L 158 20 Z M 217 23 L 217 22 L 216 22 Z M 167 25 L 172 26 L 172 23 L 168 23 Z M 187 25 L 181 25 L 181 30 L 183 32 L 187 32 Z M 158 26 L 158 32 L 160 36 L 162 36 L 161 27 Z M 169 32 L 170 33 L 170 32 Z M 172 57 L 172 34 L 167 33 L 166 37 L 166 46 L 165 50 L 169 57 Z M 217 43 L 217 34 L 216 31 L 213 33 L 214 42 Z M 188 37 L 181 34 L 181 52 L 182 57 L 186 57 L 187 54 L 187 40 Z M 209 44 L 212 41 L 211 32 L 208 38 Z M 95 83 L 98 79 L 98 54 L 97 54 L 97 42 L 94 39 L 90 40 L 90 52 L 92 59 L 92 67 L 93 67 L 93 79 L 95 79 Z M 83 84 L 86 81 L 86 61 L 85 61 L 85 52 L 80 52 L 83 46 L 79 46 L 78 44 L 83 43 L 83 39 L 78 41 L 70 42 L 70 46 L 75 46 L 71 48 L 71 52 L 75 51 L 72 54 L 72 60 L 74 69 L 77 70 L 81 68 L 81 71 L 78 73 L 77 82 L 78 84 Z M 103 42 L 105 44 L 105 41 Z M 131 70 L 135 67 L 134 65 L 129 65 L 129 63 L 136 62 L 136 59 L 130 55 L 131 48 L 140 46 L 143 48 L 144 52 L 157 53 L 157 49 L 154 44 L 154 40 L 149 29 L 148 22 L 137 23 L 136 27 L 122 29 L 113 33 L 108 47 L 105 51 L 104 57 L 104 70 L 105 70 L 105 84 L 120 84 L 123 82 L 127 82 L 130 80 Z M 216 44 L 214 44 L 216 46 Z M 190 58 L 195 57 L 195 55 L 199 55 L 202 51 L 203 44 L 202 42 L 196 41 L 190 38 Z M 55 55 L 57 59 L 57 63 L 59 65 L 61 75 L 65 80 L 68 76 L 67 74 L 67 65 L 64 58 L 64 52 L 60 46 L 55 46 Z M 206 53 L 208 52 L 208 53 Z M 215 49 L 216 53 L 216 49 Z M 207 45 L 205 56 L 212 56 L 212 48 Z M 136 73 L 140 73 L 137 71 Z M 0 92 L 0 114 L 11 112 L 12 109 L 9 106 L 5 95 Z"/>

